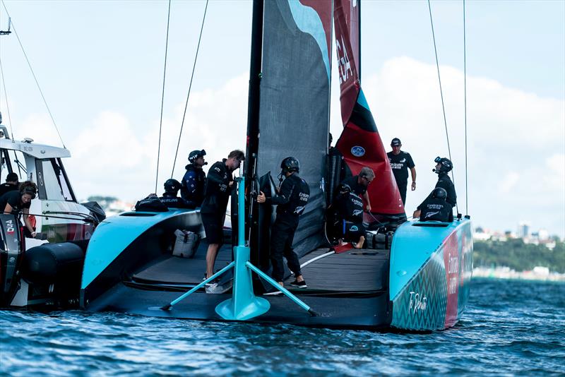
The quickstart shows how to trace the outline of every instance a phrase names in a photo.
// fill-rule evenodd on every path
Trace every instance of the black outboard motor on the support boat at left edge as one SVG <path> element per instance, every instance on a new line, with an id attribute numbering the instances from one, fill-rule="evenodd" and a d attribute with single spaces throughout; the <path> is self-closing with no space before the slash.
<path id="1" fill-rule="evenodd" d="M 0 215 L 0 306 L 8 306 L 20 287 L 20 267 L 25 245 L 20 222 Z"/>

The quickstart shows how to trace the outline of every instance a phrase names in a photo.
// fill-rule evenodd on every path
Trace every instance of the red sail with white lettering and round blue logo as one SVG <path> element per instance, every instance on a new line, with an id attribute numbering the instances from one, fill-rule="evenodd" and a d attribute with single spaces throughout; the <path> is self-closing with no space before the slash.
<path id="1" fill-rule="evenodd" d="M 338 54 L 343 132 L 335 144 L 352 174 L 370 167 L 375 179 L 367 192 L 371 212 L 404 213 L 402 199 L 381 136 L 359 83 L 359 0 L 335 0 L 335 47 Z"/>

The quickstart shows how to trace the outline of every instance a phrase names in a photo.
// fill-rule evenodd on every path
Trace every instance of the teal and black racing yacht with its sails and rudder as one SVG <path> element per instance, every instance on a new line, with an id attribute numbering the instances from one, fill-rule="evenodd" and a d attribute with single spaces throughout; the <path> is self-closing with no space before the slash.
<path id="1" fill-rule="evenodd" d="M 378 249 L 332 253 L 324 237 L 326 180 L 335 187 L 340 179 L 336 164 L 326 161 L 332 25 L 345 127 L 337 148 L 345 171 L 356 174 L 369 166 L 376 173 L 369 188 L 373 213 L 367 220 L 386 218 L 391 226 L 382 229 L 394 232 L 392 242 Z M 328 328 L 441 330 L 454 325 L 468 301 L 471 223 L 460 216 L 449 223 L 414 219 L 397 229 L 398 220 L 405 219 L 402 201 L 360 87 L 358 1 L 255 0 L 251 37 L 246 163 L 239 195 L 232 197 L 232 215 L 239 213 L 232 217 L 232 231 L 238 237 L 227 240 L 216 262 L 220 285 L 233 281 L 233 289 L 204 291 L 205 246 L 191 258 L 172 253 L 176 229 L 204 236 L 198 210 L 126 212 L 102 222 L 88 244 L 81 307 Z M 278 172 L 289 155 L 302 162 L 300 176 L 311 193 L 294 242 L 308 288 L 256 297 L 270 283 L 264 272 L 273 211 L 257 205 L 254 195 L 273 190 L 270 172 Z M 286 282 L 291 279 L 287 274 Z"/>

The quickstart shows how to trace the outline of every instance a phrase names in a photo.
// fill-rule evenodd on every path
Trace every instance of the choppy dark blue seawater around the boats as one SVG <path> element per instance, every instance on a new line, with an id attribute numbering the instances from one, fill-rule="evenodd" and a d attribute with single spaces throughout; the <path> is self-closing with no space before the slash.
<path id="1" fill-rule="evenodd" d="M 505 280 L 472 280 L 462 321 L 424 334 L 0 311 L 0 374 L 559 375 L 564 311 L 564 284 Z"/>

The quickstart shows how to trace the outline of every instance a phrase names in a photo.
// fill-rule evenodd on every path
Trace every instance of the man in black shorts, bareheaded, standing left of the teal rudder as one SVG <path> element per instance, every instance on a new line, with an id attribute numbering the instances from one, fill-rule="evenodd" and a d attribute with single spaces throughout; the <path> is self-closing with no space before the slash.
<path id="1" fill-rule="evenodd" d="M 232 172 L 245 160 L 244 152 L 232 150 L 227 158 L 215 162 L 206 178 L 204 200 L 200 209 L 202 225 L 206 232 L 208 251 L 206 252 L 206 278 L 213 275 L 218 249 L 224 243 L 224 220 L 230 188 L 234 179 Z"/>

